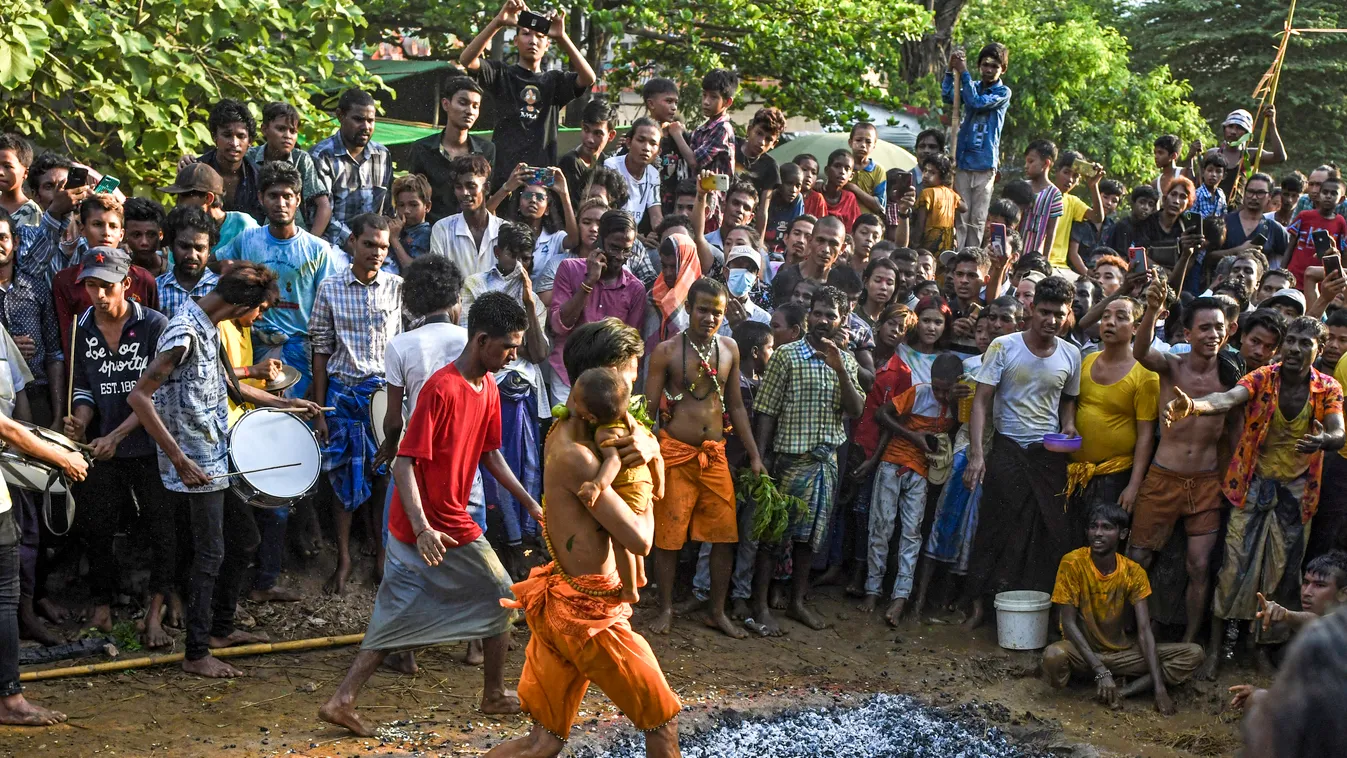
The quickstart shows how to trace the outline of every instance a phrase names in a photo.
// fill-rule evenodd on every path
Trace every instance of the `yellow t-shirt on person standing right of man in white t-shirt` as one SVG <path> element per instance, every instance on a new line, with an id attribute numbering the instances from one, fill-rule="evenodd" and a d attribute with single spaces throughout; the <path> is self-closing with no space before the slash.
<path id="1" fill-rule="evenodd" d="M 1160 407 L 1160 376 L 1142 366 L 1131 366 L 1121 380 L 1099 384 L 1090 369 L 1100 353 L 1091 353 L 1080 362 L 1080 397 L 1076 400 L 1076 428 L 1080 450 L 1071 460 L 1103 463 L 1119 455 L 1130 456 L 1137 447 L 1137 421 L 1154 421 Z"/>

